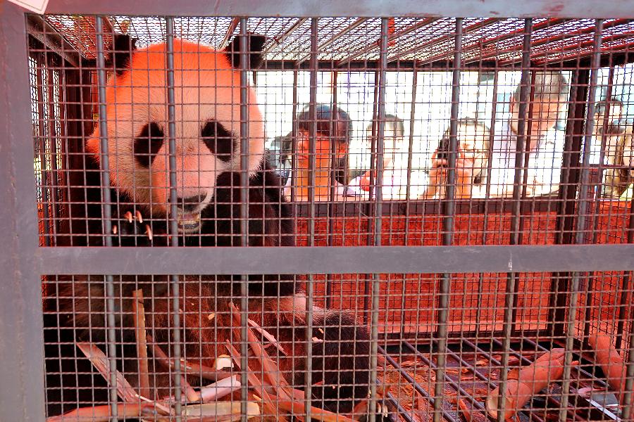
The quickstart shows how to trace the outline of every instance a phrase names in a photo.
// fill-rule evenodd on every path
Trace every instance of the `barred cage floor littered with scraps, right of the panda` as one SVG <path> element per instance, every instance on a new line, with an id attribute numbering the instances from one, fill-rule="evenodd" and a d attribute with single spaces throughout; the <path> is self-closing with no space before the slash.
<path id="1" fill-rule="evenodd" d="M 495 421 L 485 409 L 489 392 L 499 384 L 502 369 L 502 343 L 487 340 L 486 343 L 472 343 L 462 339 L 452 343 L 447 352 L 445 389 L 440 406 L 442 420 L 445 421 Z M 534 362 L 549 345 L 535 343 L 528 338 L 511 344 L 508 369 L 518 371 Z M 560 347 L 555 345 L 554 347 Z M 437 354 L 430 355 L 429 344 L 414 346 L 402 341 L 383 349 L 380 354 L 385 365 L 379 371 L 378 381 L 387 390 L 385 399 L 399 421 L 430 421 L 433 419 L 434 389 L 437 374 Z M 577 357 L 576 357 L 577 359 Z M 616 409 L 583 398 L 581 389 L 601 391 L 607 389 L 600 370 L 592 374 L 595 364 L 579 359 L 580 365 L 571 371 L 571 388 L 566 407 L 568 421 L 616 421 Z M 510 373 L 509 373 L 510 376 Z M 557 421 L 561 404 L 561 381 L 552 382 L 535 395 L 522 411 L 518 421 Z M 609 410 L 611 409 L 611 410 Z M 616 413 L 616 412 L 615 412 Z"/>

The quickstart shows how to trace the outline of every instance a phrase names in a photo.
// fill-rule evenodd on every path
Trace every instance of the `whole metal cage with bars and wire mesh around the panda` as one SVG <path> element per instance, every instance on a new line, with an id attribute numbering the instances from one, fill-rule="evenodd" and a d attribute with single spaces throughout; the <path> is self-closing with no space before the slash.
<path id="1" fill-rule="evenodd" d="M 634 420 L 634 8 L 587 0 L 512 8 L 471 0 L 312 1 L 284 10 L 271 1 L 51 0 L 46 14 L 37 15 L 0 4 L 6 204 L 0 226 L 10 236 L 1 259 L 1 419 L 335 420 L 326 390 L 347 385 L 325 385 L 326 372 L 352 369 L 319 367 L 311 359 L 320 350 L 316 343 L 330 341 L 327 316 L 323 325 L 316 322 L 320 312 L 347 312 L 352 327 L 366 330 L 368 350 L 340 348 L 328 362 L 354 360 L 357 353 L 367 359 L 361 387 L 368 394 L 355 397 L 354 406 L 340 412 L 342 420 Z M 123 144 L 112 130 L 125 129 L 115 111 L 116 129 L 108 131 L 106 117 L 116 109 L 106 94 L 112 83 L 106 79 L 115 87 L 118 80 L 106 60 L 117 53 L 115 34 L 129 34 L 137 49 L 164 43 L 166 57 L 166 98 L 159 101 L 166 113 L 159 120 L 169 210 L 150 213 L 145 222 L 132 212 L 135 231 L 125 246 L 128 216 L 112 214 L 120 197 L 111 183 L 117 172 L 134 174 L 137 167 L 109 165 L 119 162 L 120 151 L 113 155 L 108 146 Z M 265 37 L 258 68 L 249 66 L 250 34 Z M 183 247 L 189 238 L 169 217 L 178 215 L 177 185 L 187 177 L 177 174 L 185 165 L 179 134 L 187 123 L 180 108 L 206 101 L 179 93 L 179 39 L 218 51 L 242 40 L 234 51 L 239 82 L 230 87 L 237 89 L 231 97 L 237 118 L 228 135 L 240 144 L 233 151 L 240 160 L 231 170 L 237 193 L 230 203 L 241 211 L 229 217 L 237 224 L 230 244 L 211 248 L 199 232 L 199 243 Z M 118 52 L 131 53 L 125 50 Z M 545 107 L 549 112 L 547 101 L 540 102 L 543 75 L 565 82 L 542 136 L 536 116 Z M 266 145 L 263 160 L 282 178 L 272 203 L 289 207 L 292 245 L 268 244 L 266 234 L 257 245 L 249 241 L 260 236 L 249 222 L 267 218 L 249 216 L 244 206 L 252 200 L 253 98 L 266 131 L 256 145 Z M 344 153 L 330 133 L 339 117 L 321 119 L 318 104 L 348 111 L 352 135 Z M 619 118 L 613 117 L 617 107 Z M 517 117 L 500 117 L 513 113 Z M 398 148 L 390 143 L 396 130 L 390 115 L 403 122 Z M 497 150 L 506 142 L 500 139 L 511 136 L 497 132 L 502 120 L 513 134 L 506 152 Z M 470 124 L 478 129 L 463 137 Z M 96 127 L 102 166 L 91 176 L 85 142 Z M 321 136 L 328 141 L 321 153 L 325 170 L 319 167 Z M 483 146 L 473 146 L 478 158 L 464 165 L 476 136 Z M 539 155 L 535 145 L 551 149 Z M 200 162 L 203 153 L 196 155 Z M 471 177 L 468 186 L 464 174 Z M 90 177 L 97 177 L 96 185 Z M 204 175 L 196 177 L 200 184 Z M 347 194 L 354 183 L 357 190 Z M 97 189 L 97 200 L 88 188 Z M 148 244 L 152 233 L 155 244 Z M 282 281 L 277 274 L 290 276 Z M 225 297 L 218 293 L 221 280 L 232 284 L 226 307 L 218 305 Z M 304 308 L 291 311 L 302 314 L 302 323 L 292 323 L 286 343 L 276 340 L 282 328 L 266 323 L 271 313 L 279 321 L 282 299 L 273 295 L 268 305 L 254 305 L 254 280 L 306 286 Z M 79 309 L 82 294 L 90 304 L 95 300 L 93 290 L 72 293 L 66 302 L 58 296 L 81 283 L 101 289 L 103 309 Z M 125 296 L 126 283 L 145 298 Z M 157 286 L 168 293 L 154 295 Z M 43 311 L 51 300 L 56 310 Z M 166 302 L 163 344 L 152 335 L 164 315 L 145 314 L 144 300 L 148 309 Z M 207 302 L 214 305 L 201 305 Z M 90 340 L 62 340 L 63 321 L 70 318 L 77 330 L 81 312 Z M 132 315 L 134 326 L 124 326 Z M 330 333 L 342 335 L 350 327 L 337 318 Z M 97 328 L 106 333 L 103 340 L 92 338 Z M 228 344 L 205 337 L 223 330 Z M 285 347 L 296 346 L 304 347 L 301 371 L 293 365 L 282 371 Z M 192 347 L 202 352 L 192 355 Z M 81 366 L 86 358 L 92 365 Z M 220 386 L 204 386 L 205 371 L 232 380 L 223 384 L 222 399 L 215 398 Z M 159 397 L 161 376 L 167 399 Z M 107 392 L 104 401 L 96 398 L 98 389 Z M 212 398 L 201 398 L 205 394 Z"/>

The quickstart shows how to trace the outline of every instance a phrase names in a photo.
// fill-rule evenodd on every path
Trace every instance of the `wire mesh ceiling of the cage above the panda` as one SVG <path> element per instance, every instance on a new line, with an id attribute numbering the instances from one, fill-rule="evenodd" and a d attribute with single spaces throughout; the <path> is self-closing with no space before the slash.
<path id="1" fill-rule="evenodd" d="M 94 19 L 80 16 L 49 15 L 51 26 L 65 34 L 70 44 L 86 58 L 95 57 Z M 115 30 L 127 32 L 144 47 L 165 41 L 158 17 L 111 19 Z M 234 18 L 176 18 L 175 34 L 182 39 L 210 46 L 226 46 L 236 34 Z M 531 60 L 536 64 L 561 63 L 592 54 L 592 19 L 533 20 Z M 305 46 L 310 40 L 310 21 L 299 18 L 252 18 L 249 31 L 266 35 L 265 48 L 271 62 L 307 60 Z M 318 59 L 346 65 L 349 60 L 378 60 L 380 20 L 377 18 L 323 18 L 318 29 Z M 453 20 L 390 18 L 388 61 L 417 60 L 418 63 L 442 63 L 452 60 Z M 605 52 L 627 50 L 633 43 L 630 21 L 609 19 L 604 23 L 602 49 Z M 465 63 L 497 61 L 512 65 L 521 60 L 523 20 L 467 19 L 464 23 L 462 60 Z M 374 41 L 369 41 L 374 40 Z M 106 42 L 108 36 L 106 34 Z M 374 44 L 373 44 L 374 43 Z"/>

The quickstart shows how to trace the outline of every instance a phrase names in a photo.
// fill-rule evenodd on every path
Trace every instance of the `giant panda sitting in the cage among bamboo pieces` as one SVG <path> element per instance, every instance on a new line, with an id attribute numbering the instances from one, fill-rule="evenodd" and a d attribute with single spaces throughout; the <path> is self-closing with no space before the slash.
<path id="1" fill-rule="evenodd" d="M 264 39 L 249 34 L 251 68 L 261 60 Z M 223 51 L 175 39 L 176 189 L 175 216 L 170 216 L 166 44 L 136 49 L 135 41 L 116 35 L 108 63 L 113 73 L 106 87 L 106 122 L 111 179 L 114 245 L 168 245 L 168 217 L 178 222 L 180 245 L 240 245 L 240 42 Z M 249 245 L 294 245 L 290 206 L 278 177 L 264 159 L 263 119 L 249 87 Z M 89 159 L 82 175 L 87 210 L 86 245 L 103 245 L 99 128 L 86 142 Z M 75 222 L 76 223 L 76 222 Z M 78 223 L 76 223 L 78 224 Z M 80 243 L 75 243 L 80 244 Z M 139 263 L 142 264 L 142 263 Z M 115 276 L 118 367 L 135 383 L 135 335 L 130 313 L 132 290 L 141 288 L 147 329 L 168 350 L 173 311 L 169 276 Z M 231 296 L 240 300 L 240 283 L 232 277 L 187 275 L 180 278 L 183 355 L 191 362 L 213 364 L 226 354 L 232 338 L 227 315 Z M 106 383 L 75 347 L 89 340 L 104 349 L 103 276 L 67 276 L 48 283 L 44 294 L 46 399 L 49 416 L 107 401 Z M 251 318 L 275 335 L 288 356 L 279 366 L 287 380 L 304 384 L 306 368 L 306 298 L 304 283 L 289 275 L 250 276 Z M 213 321 L 210 316 L 214 315 Z M 347 312 L 313 309 L 312 392 L 315 405 L 351 411 L 368 395 L 369 337 Z M 123 358 L 122 358 L 123 357 Z M 168 376 L 150 359 L 156 397 L 170 394 Z M 76 374 L 79 375 L 76 375 Z M 192 385 L 204 381 L 188 378 Z"/>

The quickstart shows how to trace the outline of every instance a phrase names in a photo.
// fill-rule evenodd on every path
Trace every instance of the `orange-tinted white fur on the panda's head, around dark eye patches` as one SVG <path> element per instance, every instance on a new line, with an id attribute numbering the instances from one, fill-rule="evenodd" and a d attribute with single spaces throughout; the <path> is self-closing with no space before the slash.
<path id="1" fill-rule="evenodd" d="M 209 54 L 209 52 L 204 52 Z M 182 53 L 174 72 L 176 189 L 179 198 L 206 193 L 206 202 L 213 198 L 216 179 L 228 170 L 240 171 L 240 84 L 237 70 L 210 69 L 210 60 L 200 60 L 206 68 L 192 70 L 196 54 Z M 138 58 L 137 55 L 141 57 Z M 153 212 L 169 210 L 169 141 L 166 70 L 153 68 L 164 51 L 137 51 L 138 60 L 108 84 L 107 124 L 111 182 L 135 203 L 151 204 Z M 144 63 L 139 68 L 139 62 Z M 164 60 L 163 60 L 164 63 Z M 219 63 L 211 60 L 211 63 Z M 147 69 L 149 68 L 149 69 Z M 251 176 L 259 168 L 264 153 L 261 113 L 254 91 L 249 88 L 249 163 Z M 201 129 L 209 120 L 216 120 L 235 137 L 235 151 L 230 162 L 218 160 L 201 139 Z M 149 169 L 135 160 L 134 141 L 144 125 L 154 122 L 161 127 L 165 140 Z M 99 132 L 89 141 L 89 149 L 98 151 Z M 93 146 L 90 146 L 90 143 Z"/>

